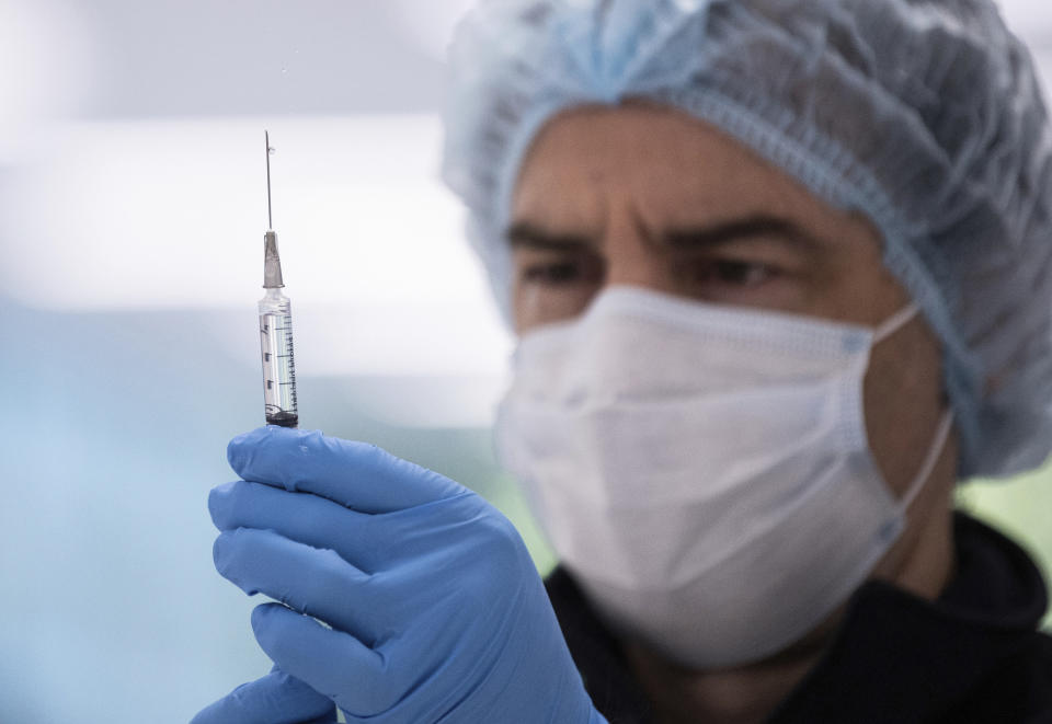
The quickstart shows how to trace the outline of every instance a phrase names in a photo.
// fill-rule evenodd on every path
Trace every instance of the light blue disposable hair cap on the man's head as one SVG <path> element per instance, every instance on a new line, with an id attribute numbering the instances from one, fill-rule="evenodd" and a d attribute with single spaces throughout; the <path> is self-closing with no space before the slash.
<path id="1" fill-rule="evenodd" d="M 579 105 L 671 105 L 877 226 L 941 340 L 963 475 L 1049 455 L 1052 137 L 990 0 L 489 0 L 450 67 L 444 176 L 505 311 L 540 128 Z"/>

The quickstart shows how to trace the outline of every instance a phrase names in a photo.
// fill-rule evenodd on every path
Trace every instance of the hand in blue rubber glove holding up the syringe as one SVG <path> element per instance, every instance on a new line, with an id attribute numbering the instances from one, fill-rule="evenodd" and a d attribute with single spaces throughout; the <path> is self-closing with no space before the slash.
<path id="1" fill-rule="evenodd" d="M 348 722 L 605 724 L 526 547 L 481 497 L 316 432 L 260 428 L 227 457 L 243 480 L 209 497 L 216 567 L 285 605 L 256 607 L 252 628 L 294 678 L 236 690 L 194 724 L 325 716 L 300 682 Z"/>

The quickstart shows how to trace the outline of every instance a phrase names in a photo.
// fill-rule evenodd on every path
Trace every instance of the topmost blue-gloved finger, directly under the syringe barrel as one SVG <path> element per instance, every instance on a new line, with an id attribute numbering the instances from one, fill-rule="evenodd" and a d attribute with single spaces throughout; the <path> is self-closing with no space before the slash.
<path id="1" fill-rule="evenodd" d="M 375 445 L 319 430 L 260 427 L 230 440 L 227 460 L 249 482 L 313 493 L 362 513 L 403 510 L 465 491 Z"/>

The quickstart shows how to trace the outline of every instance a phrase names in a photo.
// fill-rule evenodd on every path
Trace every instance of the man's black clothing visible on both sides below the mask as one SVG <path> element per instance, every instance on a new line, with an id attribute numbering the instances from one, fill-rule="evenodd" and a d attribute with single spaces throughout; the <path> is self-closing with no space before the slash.
<path id="1" fill-rule="evenodd" d="M 992 528 L 958 515 L 957 575 L 926 601 L 883 583 L 851 597 L 830 650 L 769 720 L 1052 723 L 1052 637 L 1041 574 Z M 547 583 L 592 701 L 610 724 L 649 724 L 651 705 L 570 575 Z"/>

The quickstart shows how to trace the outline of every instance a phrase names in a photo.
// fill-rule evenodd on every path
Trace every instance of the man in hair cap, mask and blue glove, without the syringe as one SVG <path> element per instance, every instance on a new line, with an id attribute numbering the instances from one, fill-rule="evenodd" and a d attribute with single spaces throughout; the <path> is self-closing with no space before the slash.
<path id="1" fill-rule="evenodd" d="M 196 722 L 1052 721 L 1040 574 L 951 507 L 1052 449 L 1052 137 L 994 5 L 493 0 L 453 64 L 561 565 L 375 448 L 238 438 L 216 563 L 276 666 Z"/>

